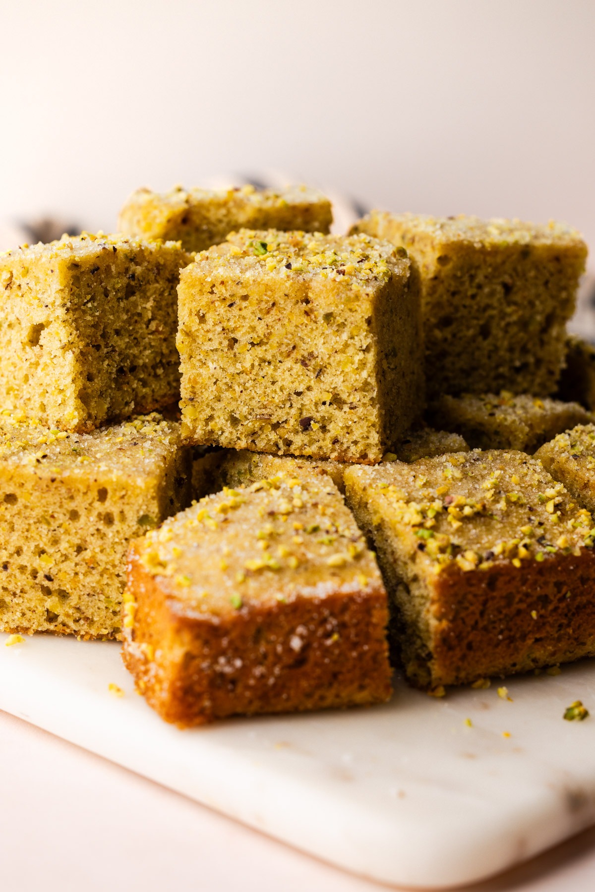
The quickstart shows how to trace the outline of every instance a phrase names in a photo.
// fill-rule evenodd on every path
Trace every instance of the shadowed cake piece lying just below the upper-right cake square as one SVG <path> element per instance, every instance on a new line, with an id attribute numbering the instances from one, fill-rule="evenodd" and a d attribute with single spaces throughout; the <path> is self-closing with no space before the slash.
<path id="1" fill-rule="evenodd" d="M 556 434 L 592 420 L 577 402 L 528 393 L 442 394 L 430 406 L 434 424 L 462 434 L 474 449 L 534 452 Z"/>

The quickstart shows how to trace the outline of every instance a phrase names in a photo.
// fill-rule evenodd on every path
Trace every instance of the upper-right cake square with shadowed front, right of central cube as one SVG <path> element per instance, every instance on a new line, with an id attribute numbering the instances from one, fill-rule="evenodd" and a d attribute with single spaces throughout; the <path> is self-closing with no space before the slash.
<path id="1" fill-rule="evenodd" d="M 587 256 L 575 229 L 372 211 L 351 231 L 405 248 L 417 266 L 428 398 L 556 389 Z"/>

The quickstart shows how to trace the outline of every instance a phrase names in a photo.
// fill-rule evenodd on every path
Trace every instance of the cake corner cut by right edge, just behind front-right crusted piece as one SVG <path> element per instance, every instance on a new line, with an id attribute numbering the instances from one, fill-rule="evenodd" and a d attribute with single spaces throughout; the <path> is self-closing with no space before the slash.
<path id="1" fill-rule="evenodd" d="M 535 458 L 583 508 L 595 512 L 595 425 L 576 425 L 558 434 Z"/>

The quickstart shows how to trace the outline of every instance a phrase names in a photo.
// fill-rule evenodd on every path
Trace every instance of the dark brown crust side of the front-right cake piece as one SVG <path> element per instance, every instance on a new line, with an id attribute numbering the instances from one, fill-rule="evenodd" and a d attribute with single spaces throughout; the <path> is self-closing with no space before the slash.
<path id="1" fill-rule="evenodd" d="M 434 587 L 432 659 L 440 668 L 432 686 L 595 656 L 593 593 L 592 549 L 520 570 L 511 563 L 489 573 L 450 566 Z"/>

